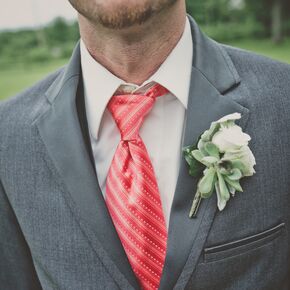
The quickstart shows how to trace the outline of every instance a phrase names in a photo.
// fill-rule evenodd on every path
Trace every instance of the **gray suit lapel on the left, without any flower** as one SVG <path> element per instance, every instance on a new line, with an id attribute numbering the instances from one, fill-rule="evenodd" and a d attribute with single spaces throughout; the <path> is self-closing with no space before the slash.
<path id="1" fill-rule="evenodd" d="M 50 106 L 37 120 L 37 127 L 60 180 L 69 192 L 72 202 L 68 204 L 95 252 L 120 287 L 138 288 L 97 182 L 88 154 L 90 148 L 84 142 L 83 136 L 86 139 L 89 136 L 86 126 L 81 123 L 82 131 L 78 120 L 79 116 L 84 121 L 84 115 L 76 108 L 77 92 L 82 94 L 80 75 L 77 46 L 65 72 L 46 93 Z M 78 95 L 78 105 L 84 105 L 79 98 L 83 96 Z"/>

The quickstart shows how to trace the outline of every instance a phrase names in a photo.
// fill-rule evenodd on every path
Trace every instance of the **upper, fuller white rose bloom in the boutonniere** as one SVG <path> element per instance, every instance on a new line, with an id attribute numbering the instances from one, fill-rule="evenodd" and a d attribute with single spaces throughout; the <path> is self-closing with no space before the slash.
<path id="1" fill-rule="evenodd" d="M 230 127 L 221 127 L 212 138 L 214 143 L 221 153 L 227 151 L 235 151 L 243 146 L 247 146 L 251 137 L 244 133 L 238 125 Z"/>

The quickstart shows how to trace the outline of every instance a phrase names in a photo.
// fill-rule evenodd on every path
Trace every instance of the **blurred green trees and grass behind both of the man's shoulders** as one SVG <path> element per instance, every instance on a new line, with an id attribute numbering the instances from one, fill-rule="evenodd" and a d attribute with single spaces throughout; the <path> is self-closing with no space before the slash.
<path id="1" fill-rule="evenodd" d="M 187 10 L 213 39 L 290 63 L 289 0 L 188 0 Z M 77 22 L 0 31 L 0 99 L 64 65 L 79 39 Z"/>

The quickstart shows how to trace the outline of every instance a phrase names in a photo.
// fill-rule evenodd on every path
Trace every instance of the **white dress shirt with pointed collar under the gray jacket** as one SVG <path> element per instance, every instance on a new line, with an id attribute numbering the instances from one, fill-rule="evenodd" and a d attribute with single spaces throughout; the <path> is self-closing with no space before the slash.
<path id="1" fill-rule="evenodd" d="M 85 104 L 98 182 L 106 196 L 107 174 L 120 141 L 120 133 L 106 108 L 114 92 L 122 86 L 142 91 L 157 82 L 170 93 L 156 99 L 140 129 L 155 171 L 161 202 L 168 226 L 170 209 L 179 172 L 181 143 L 192 63 L 192 36 L 189 20 L 179 42 L 167 59 L 141 86 L 128 84 L 96 62 L 81 41 L 81 66 Z"/>

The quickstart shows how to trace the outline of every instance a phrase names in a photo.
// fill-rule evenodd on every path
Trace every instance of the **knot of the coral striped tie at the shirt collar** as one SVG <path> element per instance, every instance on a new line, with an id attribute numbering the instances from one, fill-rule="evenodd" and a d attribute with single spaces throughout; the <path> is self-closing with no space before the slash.
<path id="1" fill-rule="evenodd" d="M 114 95 L 108 109 L 111 112 L 123 141 L 136 140 L 145 116 L 151 111 L 157 97 L 168 90 L 159 84 L 149 88 L 144 94 Z"/>

